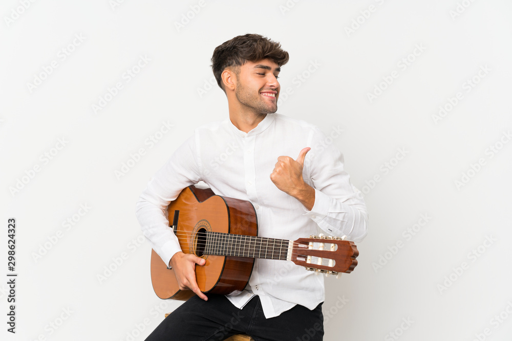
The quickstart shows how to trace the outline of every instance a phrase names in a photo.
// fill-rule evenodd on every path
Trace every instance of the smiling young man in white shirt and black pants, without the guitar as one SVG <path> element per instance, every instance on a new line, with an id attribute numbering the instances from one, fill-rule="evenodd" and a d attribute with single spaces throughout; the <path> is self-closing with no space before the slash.
<path id="1" fill-rule="evenodd" d="M 367 234 L 365 202 L 344 171 L 343 155 L 317 127 L 274 113 L 278 75 L 288 62 L 281 45 L 257 34 L 237 36 L 217 47 L 211 61 L 229 118 L 197 128 L 137 202 L 153 249 L 174 268 L 180 288 L 197 294 L 146 340 L 223 340 L 238 333 L 258 341 L 322 340 L 323 276 L 289 261 L 257 259 L 244 291 L 205 295 L 194 272 L 204 259 L 181 252 L 168 228 L 169 202 L 202 180 L 215 194 L 250 201 L 263 237 L 325 233 L 361 241 Z"/>

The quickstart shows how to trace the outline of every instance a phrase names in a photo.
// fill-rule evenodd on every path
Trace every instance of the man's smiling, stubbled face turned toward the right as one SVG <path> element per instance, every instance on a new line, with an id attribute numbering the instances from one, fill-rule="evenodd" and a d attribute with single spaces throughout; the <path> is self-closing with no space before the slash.
<path id="1" fill-rule="evenodd" d="M 240 66 L 235 89 L 238 101 L 258 114 L 277 111 L 280 71 L 279 65 L 269 59 Z"/>

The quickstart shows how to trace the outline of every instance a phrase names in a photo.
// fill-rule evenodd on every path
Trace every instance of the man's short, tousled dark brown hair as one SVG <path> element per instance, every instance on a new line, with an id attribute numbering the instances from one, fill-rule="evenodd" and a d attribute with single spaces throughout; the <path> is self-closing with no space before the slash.
<path id="1" fill-rule="evenodd" d="M 288 52 L 281 49 L 279 42 L 259 34 L 246 34 L 228 40 L 214 50 L 211 69 L 220 88 L 224 90 L 221 74 L 229 66 L 242 66 L 246 62 L 270 59 L 280 67 L 288 62 Z M 225 92 L 226 90 L 224 90 Z"/>

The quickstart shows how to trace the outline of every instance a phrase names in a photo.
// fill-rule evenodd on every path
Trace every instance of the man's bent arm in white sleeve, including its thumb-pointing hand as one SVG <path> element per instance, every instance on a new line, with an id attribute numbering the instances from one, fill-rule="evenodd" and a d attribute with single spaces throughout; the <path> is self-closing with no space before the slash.
<path id="1" fill-rule="evenodd" d="M 350 183 L 343 155 L 334 146 L 319 143 L 323 141 L 325 135 L 316 128 L 311 142 L 315 150 L 302 149 L 297 160 L 280 156 L 270 178 L 276 187 L 299 200 L 305 215 L 326 233 L 361 241 L 367 235 L 368 225 L 362 193 Z M 303 179 L 305 162 L 314 187 Z"/>

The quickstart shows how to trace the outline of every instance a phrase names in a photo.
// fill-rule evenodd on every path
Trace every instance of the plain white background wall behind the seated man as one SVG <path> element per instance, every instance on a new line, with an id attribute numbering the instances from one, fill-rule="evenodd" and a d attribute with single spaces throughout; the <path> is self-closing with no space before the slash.
<path id="1" fill-rule="evenodd" d="M 135 202 L 196 126 L 227 117 L 210 57 L 245 33 L 290 53 L 278 112 L 343 129 L 332 143 L 366 193 L 359 265 L 326 279 L 324 339 L 510 339 L 510 2 L 23 3 L 0 8 L 2 339 L 143 340 L 180 304 L 153 292 Z M 130 82 L 128 69 L 139 71 Z M 160 134 L 163 122 L 173 128 Z"/>

